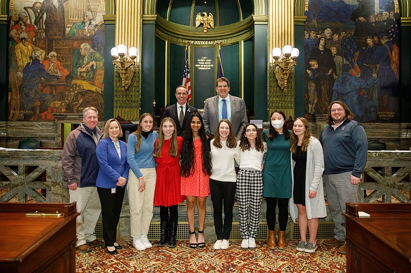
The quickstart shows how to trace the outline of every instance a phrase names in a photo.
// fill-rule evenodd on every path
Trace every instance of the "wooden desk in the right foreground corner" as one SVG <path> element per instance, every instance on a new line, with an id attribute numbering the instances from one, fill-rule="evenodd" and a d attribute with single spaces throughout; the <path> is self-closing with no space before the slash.
<path id="1" fill-rule="evenodd" d="M 343 215 L 347 272 L 411 272 L 410 203 L 347 203 Z"/>

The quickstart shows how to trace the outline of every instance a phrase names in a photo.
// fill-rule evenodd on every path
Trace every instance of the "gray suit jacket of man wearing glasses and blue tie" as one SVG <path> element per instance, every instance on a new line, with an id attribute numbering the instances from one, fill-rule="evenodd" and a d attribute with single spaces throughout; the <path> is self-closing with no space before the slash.
<path id="1" fill-rule="evenodd" d="M 248 122 L 246 103 L 239 97 L 230 95 L 231 105 L 231 127 L 237 139 L 240 139 L 242 127 Z M 204 129 L 206 132 L 214 134 L 218 126 L 218 95 L 209 97 L 204 104 L 202 115 Z"/>

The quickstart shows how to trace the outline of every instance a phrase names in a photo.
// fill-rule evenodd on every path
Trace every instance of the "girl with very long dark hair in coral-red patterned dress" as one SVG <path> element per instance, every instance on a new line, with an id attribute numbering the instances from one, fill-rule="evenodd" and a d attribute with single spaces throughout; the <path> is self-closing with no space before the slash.
<path id="1" fill-rule="evenodd" d="M 211 156 L 201 115 L 191 114 L 190 126 L 183 132 L 181 152 L 181 194 L 187 200 L 187 219 L 190 226 L 190 248 L 205 247 L 204 222 L 206 199 L 210 193 Z M 198 209 L 198 241 L 196 240 L 194 210 Z M 197 244 L 198 242 L 198 244 Z"/>

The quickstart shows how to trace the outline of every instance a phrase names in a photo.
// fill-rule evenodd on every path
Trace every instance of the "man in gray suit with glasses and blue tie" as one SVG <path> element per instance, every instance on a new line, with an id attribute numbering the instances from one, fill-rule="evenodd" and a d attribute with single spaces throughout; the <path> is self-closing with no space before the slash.
<path id="1" fill-rule="evenodd" d="M 214 134 L 218 122 L 228 119 L 237 139 L 240 139 L 242 127 L 248 122 L 246 104 L 239 97 L 229 95 L 230 81 L 226 77 L 217 79 L 216 96 L 209 97 L 204 104 L 202 119 L 207 133 Z"/>

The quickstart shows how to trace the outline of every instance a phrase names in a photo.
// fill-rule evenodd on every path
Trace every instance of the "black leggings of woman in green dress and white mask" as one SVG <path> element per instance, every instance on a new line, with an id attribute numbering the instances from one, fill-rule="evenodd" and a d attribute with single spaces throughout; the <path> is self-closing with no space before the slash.
<path id="1" fill-rule="evenodd" d="M 288 222 L 289 198 L 267 197 L 267 225 L 269 230 L 275 230 L 275 214 L 278 203 L 278 226 L 279 230 L 285 231 Z"/>

